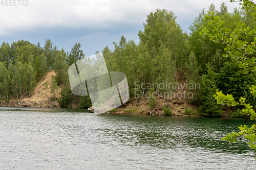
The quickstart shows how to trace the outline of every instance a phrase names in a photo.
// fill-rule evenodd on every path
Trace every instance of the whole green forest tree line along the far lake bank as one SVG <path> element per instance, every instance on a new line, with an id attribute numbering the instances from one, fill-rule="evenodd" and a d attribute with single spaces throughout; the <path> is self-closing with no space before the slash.
<path id="1" fill-rule="evenodd" d="M 208 11 L 215 12 L 225 21 L 225 27 L 231 30 L 237 27 L 238 22 L 245 23 L 251 30 L 256 26 L 255 20 L 244 9 L 234 8 L 233 12 L 228 12 L 227 6 L 222 3 L 220 11 L 213 4 Z M 135 82 L 142 85 L 162 82 L 175 84 L 185 72 L 188 83 L 200 83 L 200 90 L 193 91 L 194 98 L 189 102 L 198 105 L 203 115 L 222 114 L 221 106 L 212 97 L 217 89 L 223 93 L 236 94 L 234 96 L 245 96 L 250 103 L 255 103 L 248 91 L 248 86 L 255 82 L 255 76 L 239 72 L 238 63 L 222 57 L 225 45 L 200 35 L 205 28 L 213 29 L 204 19 L 205 13 L 207 11 L 203 9 L 195 18 L 188 35 L 182 31 L 172 11 L 157 9 L 147 15 L 143 23 L 144 30 L 138 32 L 138 44 L 134 40 L 126 41 L 122 36 L 118 43 L 113 42 L 113 51 L 108 46 L 102 50 L 108 70 L 126 74 L 131 100 L 138 100 Z M 243 34 L 238 38 L 249 43 L 253 41 L 253 37 Z M 49 39 L 43 47 L 39 43 L 35 45 L 25 40 L 11 44 L 3 42 L 0 47 L 1 98 L 8 99 L 12 95 L 23 99 L 31 95 L 46 72 L 55 70 L 56 84 L 63 85 L 58 99 L 60 106 L 69 107 L 71 103 L 78 102 L 81 108 L 89 107 L 89 96 L 72 94 L 67 74 L 68 67 L 83 57 L 79 43 L 72 46 L 71 52 L 65 52 L 63 48 L 59 50 L 56 45 L 53 46 Z M 142 95 L 152 92 L 152 89 L 140 88 Z M 170 89 L 158 90 L 165 92 Z"/>

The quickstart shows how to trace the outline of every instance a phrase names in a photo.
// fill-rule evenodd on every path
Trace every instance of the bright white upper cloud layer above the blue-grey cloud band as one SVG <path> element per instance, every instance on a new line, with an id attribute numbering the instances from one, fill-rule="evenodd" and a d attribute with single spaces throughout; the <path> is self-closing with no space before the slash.
<path id="1" fill-rule="evenodd" d="M 28 6 L 1 6 L 0 36 L 15 34 L 17 31 L 58 27 L 98 30 L 112 29 L 113 23 L 142 25 L 146 15 L 157 8 L 173 10 L 177 19 L 182 22 L 187 18 L 195 18 L 203 8 L 207 10 L 211 3 L 219 9 L 223 1 L 231 7 L 229 10 L 238 6 L 238 3 L 229 3 L 227 0 L 34 0 L 28 1 Z"/>

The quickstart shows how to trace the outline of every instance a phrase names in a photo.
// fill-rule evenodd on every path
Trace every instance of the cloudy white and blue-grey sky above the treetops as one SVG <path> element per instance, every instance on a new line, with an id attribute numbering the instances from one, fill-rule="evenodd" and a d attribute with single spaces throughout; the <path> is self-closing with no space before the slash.
<path id="1" fill-rule="evenodd" d="M 156 9 L 173 11 L 183 32 L 189 34 L 189 26 L 203 8 L 207 11 L 214 4 L 220 10 L 223 2 L 229 12 L 240 7 L 229 0 L 14 0 L 15 6 L 10 2 L 0 4 L 0 43 L 23 39 L 44 47 L 50 39 L 58 49 L 70 52 L 79 42 L 85 56 L 101 52 L 106 45 L 114 50 L 113 42 L 122 35 L 139 43 L 138 32 Z"/>

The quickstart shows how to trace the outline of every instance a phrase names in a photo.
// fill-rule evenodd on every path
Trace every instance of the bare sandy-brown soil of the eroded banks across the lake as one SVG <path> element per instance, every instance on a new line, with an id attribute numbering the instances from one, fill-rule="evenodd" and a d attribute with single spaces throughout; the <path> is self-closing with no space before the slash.
<path id="1" fill-rule="evenodd" d="M 179 70 L 177 71 L 179 72 Z M 172 93 L 172 96 L 169 97 L 168 107 L 172 110 L 173 115 L 175 116 L 188 116 L 184 114 L 185 106 L 189 109 L 198 111 L 198 108 L 195 105 L 190 105 L 187 102 L 188 89 L 186 86 L 186 79 L 184 77 L 184 70 L 181 75 L 177 74 L 177 84 L 175 84 L 175 94 Z M 53 70 L 49 70 L 45 76 L 42 78 L 34 92 L 32 92 L 31 96 L 26 96 L 22 100 L 20 98 L 17 100 L 11 97 L 9 102 L 7 103 L 6 99 L 2 99 L 0 102 L 0 106 L 2 107 L 49 107 L 49 108 L 60 108 L 57 100 L 53 101 L 52 94 L 50 93 L 50 84 L 52 82 L 51 76 L 56 76 Z M 48 88 L 47 85 L 48 84 Z M 184 86 L 185 85 L 185 86 Z M 58 98 L 58 94 L 61 91 L 62 86 L 58 85 L 58 90 L 55 98 Z M 148 99 L 146 97 L 140 98 L 136 101 L 129 101 L 123 104 L 122 106 L 116 108 L 116 111 L 111 111 L 111 113 L 115 114 L 140 114 L 140 115 L 164 115 L 163 106 L 167 106 L 167 96 L 164 98 L 164 94 L 158 91 L 155 91 L 156 95 L 154 98 L 156 99 L 157 105 L 154 109 L 150 109 L 148 106 Z M 173 91 L 172 91 L 173 92 Z M 169 93 L 170 94 L 170 93 Z M 77 103 L 72 103 L 69 106 L 70 108 L 79 108 Z M 223 116 L 230 116 L 232 111 L 229 107 L 224 107 L 223 111 L 225 113 Z"/>

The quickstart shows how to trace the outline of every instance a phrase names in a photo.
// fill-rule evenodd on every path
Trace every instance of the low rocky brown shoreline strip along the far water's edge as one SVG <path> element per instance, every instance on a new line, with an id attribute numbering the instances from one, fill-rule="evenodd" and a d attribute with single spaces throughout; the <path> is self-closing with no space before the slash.
<path id="1" fill-rule="evenodd" d="M 156 98 L 157 105 L 150 109 L 148 106 L 148 100 L 147 99 L 140 99 L 137 102 L 129 101 L 118 108 L 115 108 L 113 110 L 107 111 L 105 113 L 110 114 L 134 114 L 134 115 L 150 115 L 150 116 L 167 116 L 164 114 L 163 107 L 167 106 L 167 102 L 162 99 L 161 97 Z M 70 105 L 71 107 L 68 107 L 69 109 L 79 109 L 77 104 Z M 6 100 L 0 101 L 0 107 L 30 107 L 30 108 L 60 108 L 59 103 L 55 100 L 42 100 L 42 101 L 32 101 L 28 99 L 24 99 L 22 101 L 17 102 L 16 99 L 12 99 L 9 102 Z M 185 114 L 185 107 L 190 109 L 190 114 Z M 93 106 L 91 107 L 93 108 Z M 180 101 L 178 102 L 176 99 L 170 99 L 169 100 L 169 107 L 172 115 L 169 116 L 183 116 L 183 117 L 205 117 L 203 115 L 200 115 L 198 108 L 195 105 L 187 104 L 187 102 Z M 90 108 L 88 110 L 91 113 L 94 113 L 91 111 Z M 229 112 L 229 113 L 228 113 Z M 226 108 L 226 112 L 223 113 L 220 117 L 230 117 L 230 111 Z"/>

